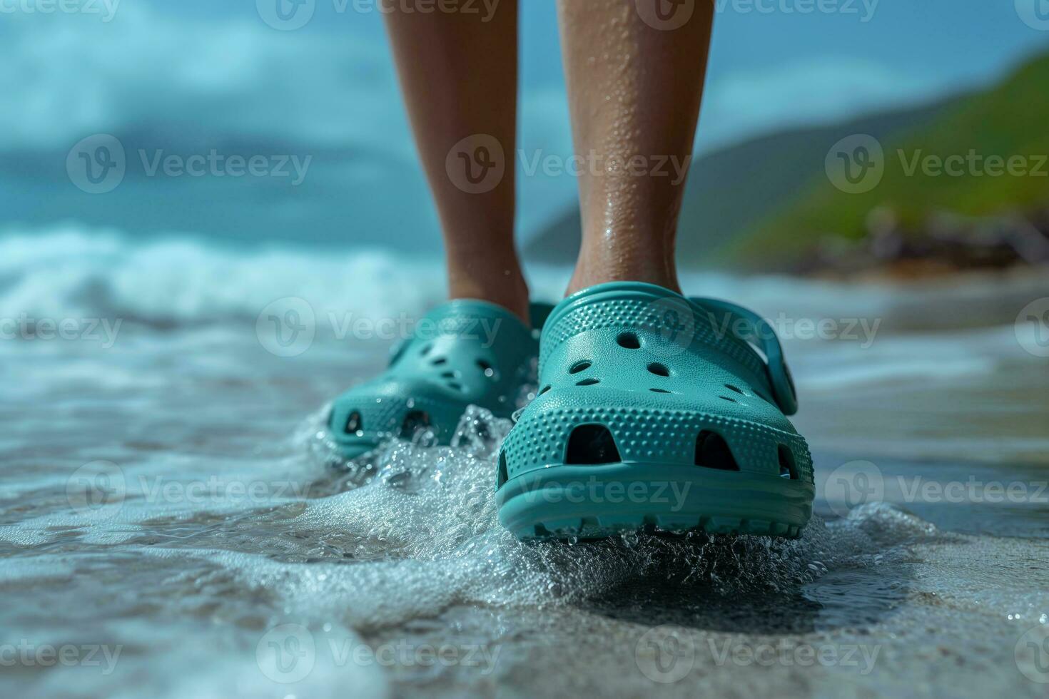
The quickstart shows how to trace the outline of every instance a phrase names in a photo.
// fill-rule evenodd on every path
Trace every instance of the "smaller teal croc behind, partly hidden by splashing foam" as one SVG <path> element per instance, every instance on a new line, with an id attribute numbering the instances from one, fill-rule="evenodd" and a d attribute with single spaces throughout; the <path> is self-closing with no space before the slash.
<path id="1" fill-rule="evenodd" d="M 533 304 L 541 321 L 549 306 Z M 538 324 L 537 326 L 538 327 Z M 437 306 L 394 348 L 378 377 L 336 398 L 328 430 L 352 459 L 391 437 L 429 429 L 447 444 L 468 406 L 509 418 L 537 353 L 536 333 L 501 306 L 457 300 Z"/>

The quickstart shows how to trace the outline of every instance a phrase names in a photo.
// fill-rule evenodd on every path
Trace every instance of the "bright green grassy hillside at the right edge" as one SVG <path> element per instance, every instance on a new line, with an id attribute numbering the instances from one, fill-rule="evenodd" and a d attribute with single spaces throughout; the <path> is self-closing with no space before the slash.
<path id="1" fill-rule="evenodd" d="M 790 266 L 829 237 L 862 238 L 864 222 L 876 209 L 894 212 L 902 230 L 916 231 L 937 212 L 994 216 L 1046 205 L 1047 87 L 1049 56 L 1023 66 L 993 89 L 959 100 L 930 123 L 889 138 L 871 134 L 881 141 L 884 174 L 874 189 L 860 194 L 844 193 L 831 182 L 823 159 L 836 141 L 826 141 L 822 152 L 812 153 L 809 163 L 819 174 L 808 180 L 793 203 L 748 226 L 731 246 L 732 257 L 747 260 L 748 266 Z M 936 168 L 938 161 L 952 156 L 956 174 Z M 991 156 L 1006 165 L 1020 156 L 1014 163 L 1030 174 L 1004 168 L 993 175 L 992 166 L 998 163 Z"/>

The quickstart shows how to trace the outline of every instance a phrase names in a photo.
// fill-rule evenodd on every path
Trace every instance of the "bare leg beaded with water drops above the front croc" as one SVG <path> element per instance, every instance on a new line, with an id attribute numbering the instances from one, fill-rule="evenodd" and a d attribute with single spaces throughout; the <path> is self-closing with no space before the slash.
<path id="1" fill-rule="evenodd" d="M 558 0 L 583 241 L 569 292 L 680 290 L 675 238 L 706 73 L 709 0 Z"/>

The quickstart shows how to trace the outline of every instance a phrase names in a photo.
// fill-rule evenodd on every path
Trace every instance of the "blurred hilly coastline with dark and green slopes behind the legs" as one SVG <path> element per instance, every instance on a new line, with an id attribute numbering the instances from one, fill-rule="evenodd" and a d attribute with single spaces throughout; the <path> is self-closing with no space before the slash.
<path id="1" fill-rule="evenodd" d="M 1049 264 L 1049 53 L 983 90 L 761 136 L 692 163 L 684 267 L 892 281 Z M 578 212 L 526 254 L 566 263 Z"/>

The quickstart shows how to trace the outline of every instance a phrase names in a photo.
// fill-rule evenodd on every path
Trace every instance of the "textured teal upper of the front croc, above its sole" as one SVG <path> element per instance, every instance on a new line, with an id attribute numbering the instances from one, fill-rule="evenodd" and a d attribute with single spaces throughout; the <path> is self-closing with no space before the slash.
<path id="1" fill-rule="evenodd" d="M 539 356 L 538 395 L 504 442 L 498 487 L 543 469 L 637 464 L 638 474 L 731 471 L 741 478 L 726 487 L 774 492 L 791 481 L 811 493 L 809 450 L 786 417 L 797 408 L 793 381 L 754 313 L 650 284 L 601 284 L 554 309 Z M 792 512 L 763 526 L 802 519 Z"/>

